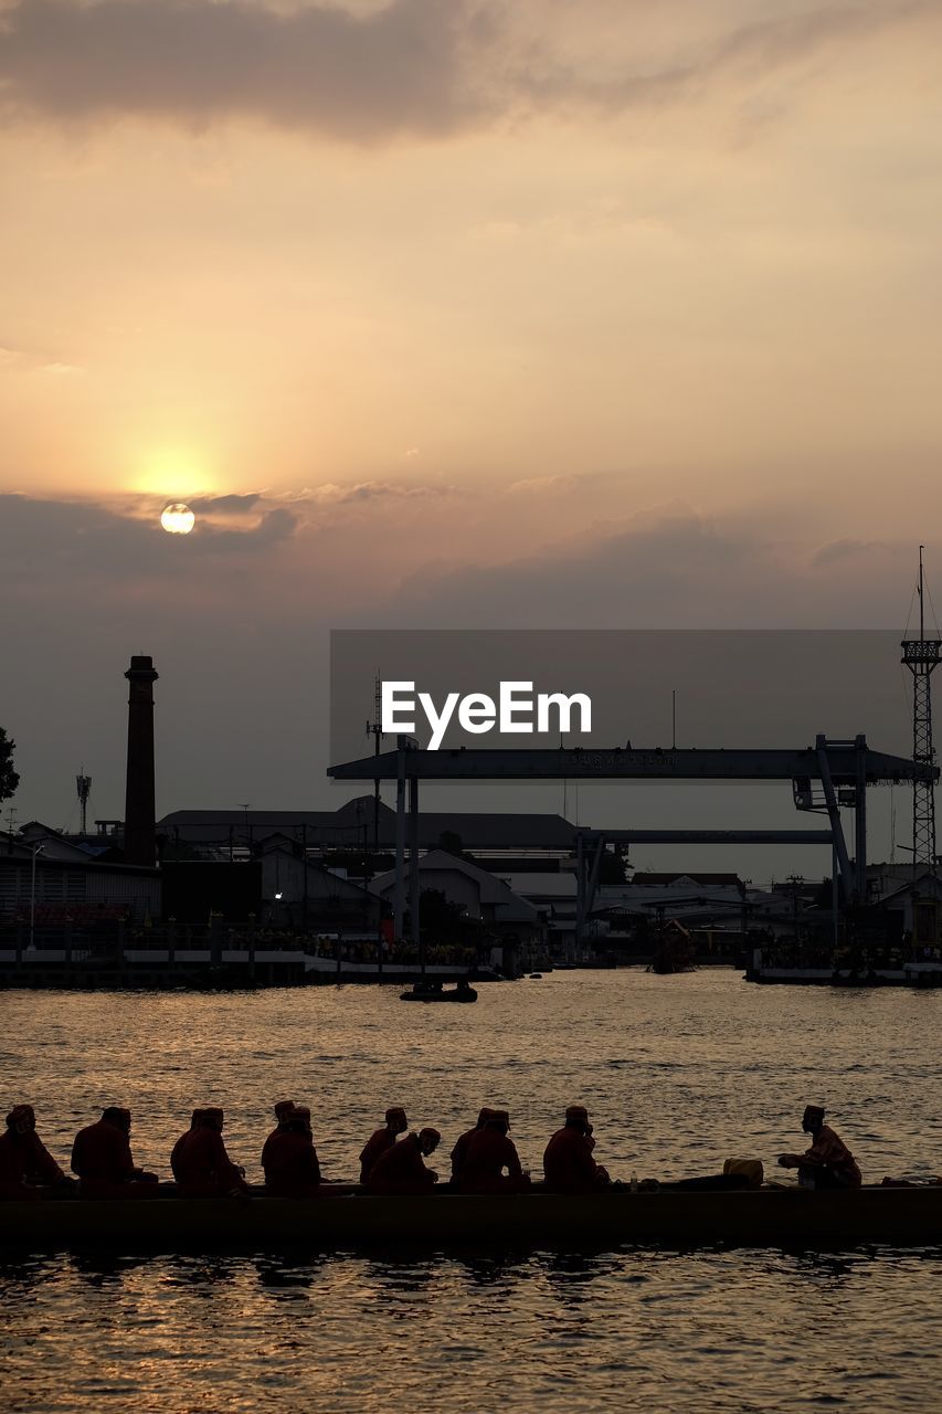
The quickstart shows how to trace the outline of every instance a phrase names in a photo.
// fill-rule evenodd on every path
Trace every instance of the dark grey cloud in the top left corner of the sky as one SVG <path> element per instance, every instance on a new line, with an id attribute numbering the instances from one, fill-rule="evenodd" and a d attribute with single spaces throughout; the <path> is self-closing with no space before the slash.
<path id="1" fill-rule="evenodd" d="M 478 109 L 468 0 L 392 0 L 355 17 L 248 0 L 23 0 L 3 11 L 7 110 L 64 120 L 255 117 L 354 141 L 450 132 Z"/>

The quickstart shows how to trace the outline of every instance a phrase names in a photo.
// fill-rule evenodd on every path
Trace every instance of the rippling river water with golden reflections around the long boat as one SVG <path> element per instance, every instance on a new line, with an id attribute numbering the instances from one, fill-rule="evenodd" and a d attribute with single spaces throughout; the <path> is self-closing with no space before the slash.
<path id="1" fill-rule="evenodd" d="M 446 1154 L 481 1104 L 505 1106 L 537 1172 L 581 1102 L 622 1178 L 716 1172 L 733 1154 L 772 1168 L 823 1103 L 866 1181 L 942 1172 L 939 994 L 719 970 L 478 990 L 475 1007 L 403 1005 L 392 987 L 6 993 L 1 1099 L 35 1104 L 64 1167 L 74 1133 L 120 1103 L 136 1161 L 167 1174 L 190 1110 L 218 1103 L 257 1181 L 272 1104 L 290 1097 L 311 1106 L 331 1178 L 356 1176 L 392 1103 L 440 1128 Z M 3 1406 L 925 1411 L 942 1408 L 941 1290 L 939 1250 L 37 1256 L 0 1263 Z"/>

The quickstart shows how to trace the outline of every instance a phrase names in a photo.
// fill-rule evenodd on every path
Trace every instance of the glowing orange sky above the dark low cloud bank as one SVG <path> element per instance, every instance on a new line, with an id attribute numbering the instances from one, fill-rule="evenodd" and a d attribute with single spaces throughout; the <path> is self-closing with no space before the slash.
<path id="1" fill-rule="evenodd" d="M 721 512 L 832 468 L 902 527 L 939 450 L 938 6 L 359 4 L 362 92 L 307 107 L 321 31 L 256 74 L 225 21 L 321 7 L 157 8 L 178 71 L 133 0 L 3 11 L 4 489 L 605 474 Z"/>

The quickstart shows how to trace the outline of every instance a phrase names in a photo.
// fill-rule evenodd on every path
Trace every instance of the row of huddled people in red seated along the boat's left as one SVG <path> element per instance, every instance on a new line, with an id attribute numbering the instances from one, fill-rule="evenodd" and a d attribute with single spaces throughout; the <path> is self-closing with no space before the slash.
<path id="1" fill-rule="evenodd" d="M 349 1192 L 352 1185 L 324 1181 L 306 1106 L 284 1100 L 274 1107 L 276 1127 L 262 1150 L 264 1191 L 279 1198 L 331 1196 Z M 130 1110 L 109 1106 L 102 1118 L 75 1135 L 72 1172 L 82 1198 L 157 1198 L 173 1191 L 181 1198 L 249 1198 L 245 1169 L 235 1164 L 222 1138 L 225 1114 L 221 1109 L 192 1111 L 190 1128 L 174 1144 L 170 1167 L 174 1186 L 160 1184 L 134 1164 L 130 1147 Z M 530 1188 L 516 1145 L 509 1137 L 506 1110 L 482 1109 L 477 1124 L 463 1134 L 451 1151 L 448 1186 L 463 1193 L 515 1193 Z M 400 1106 L 386 1111 L 359 1155 L 359 1186 L 368 1193 L 424 1193 L 438 1181 L 424 1162 L 438 1144 L 438 1130 L 407 1133 L 409 1121 Z M 608 1174 L 593 1158 L 594 1138 L 588 1113 L 570 1106 L 566 1124 L 546 1147 L 546 1188 L 578 1193 L 608 1185 Z M 23 1199 L 44 1191 L 68 1192 L 69 1179 L 40 1140 L 35 1113 L 28 1104 L 16 1106 L 0 1134 L 0 1198 Z"/>

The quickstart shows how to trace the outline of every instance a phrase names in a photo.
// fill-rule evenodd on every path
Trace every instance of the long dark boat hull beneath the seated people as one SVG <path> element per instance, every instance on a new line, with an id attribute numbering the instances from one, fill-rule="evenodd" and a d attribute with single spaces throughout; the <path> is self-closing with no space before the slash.
<path id="1" fill-rule="evenodd" d="M 0 1203 L 4 1250 L 279 1250 L 409 1249 L 605 1250 L 818 1247 L 880 1243 L 942 1244 L 942 1186 L 799 1188 L 747 1192 L 612 1191 L 590 1198 L 556 1193 L 376 1198 L 362 1193 L 291 1202 L 157 1198 Z"/>

